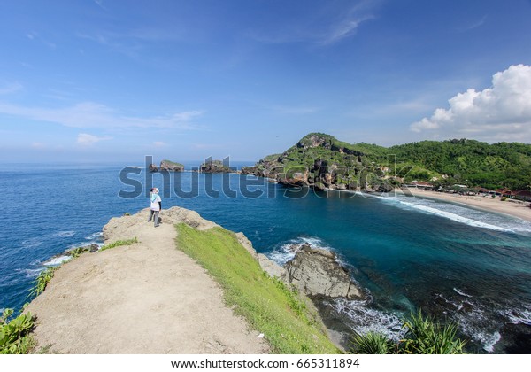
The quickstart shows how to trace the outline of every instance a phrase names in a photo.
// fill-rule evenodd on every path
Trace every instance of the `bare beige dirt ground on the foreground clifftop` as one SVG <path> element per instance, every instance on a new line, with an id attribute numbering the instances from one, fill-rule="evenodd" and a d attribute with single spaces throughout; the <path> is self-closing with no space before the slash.
<path id="1" fill-rule="evenodd" d="M 27 307 L 38 345 L 50 353 L 267 353 L 258 332 L 224 305 L 219 285 L 175 248 L 173 223 L 213 223 L 181 208 L 163 211 L 158 228 L 147 216 L 113 218 L 104 228 L 105 243 L 140 243 L 59 268 Z"/>

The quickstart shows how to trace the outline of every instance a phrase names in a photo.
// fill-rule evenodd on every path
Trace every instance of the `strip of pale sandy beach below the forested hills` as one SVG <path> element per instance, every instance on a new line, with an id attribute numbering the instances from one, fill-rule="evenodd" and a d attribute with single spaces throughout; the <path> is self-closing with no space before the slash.
<path id="1" fill-rule="evenodd" d="M 415 197 L 421 198 L 436 198 L 447 200 L 452 203 L 461 203 L 464 205 L 473 206 L 474 208 L 482 209 L 484 211 L 509 214 L 513 217 L 518 217 L 523 220 L 531 221 L 531 208 L 529 202 L 518 203 L 509 200 L 501 201 L 501 198 L 486 198 L 486 197 L 472 197 L 458 194 L 448 194 L 444 192 L 415 190 L 408 189 Z"/>

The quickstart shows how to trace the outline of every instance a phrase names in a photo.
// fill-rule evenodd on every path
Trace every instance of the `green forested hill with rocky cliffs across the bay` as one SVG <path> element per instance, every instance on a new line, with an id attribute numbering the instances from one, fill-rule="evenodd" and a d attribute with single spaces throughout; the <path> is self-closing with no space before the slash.
<path id="1" fill-rule="evenodd" d="M 281 154 L 269 155 L 244 173 L 289 184 L 350 190 L 386 190 L 401 182 L 466 184 L 528 190 L 531 144 L 467 139 L 422 141 L 392 147 L 345 143 L 311 133 Z"/>

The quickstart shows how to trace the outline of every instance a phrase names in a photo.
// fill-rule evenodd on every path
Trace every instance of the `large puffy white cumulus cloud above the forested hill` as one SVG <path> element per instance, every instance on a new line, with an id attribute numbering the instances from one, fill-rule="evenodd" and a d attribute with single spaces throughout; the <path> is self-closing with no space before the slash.
<path id="1" fill-rule="evenodd" d="M 531 142 L 531 66 L 513 65 L 492 77 L 492 86 L 450 98 L 449 109 L 412 123 L 413 132 L 489 142 Z"/>

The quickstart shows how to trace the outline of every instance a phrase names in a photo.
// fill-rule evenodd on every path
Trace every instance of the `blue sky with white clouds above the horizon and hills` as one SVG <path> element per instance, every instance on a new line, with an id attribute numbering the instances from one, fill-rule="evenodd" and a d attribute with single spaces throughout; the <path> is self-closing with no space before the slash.
<path id="1" fill-rule="evenodd" d="M 0 162 L 531 143 L 531 0 L 0 4 Z"/>

